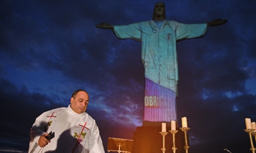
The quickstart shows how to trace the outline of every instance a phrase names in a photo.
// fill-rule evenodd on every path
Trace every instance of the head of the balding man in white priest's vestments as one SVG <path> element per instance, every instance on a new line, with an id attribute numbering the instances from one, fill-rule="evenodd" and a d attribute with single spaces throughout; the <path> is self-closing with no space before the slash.
<path id="1" fill-rule="evenodd" d="M 75 97 L 70 99 L 70 107 L 76 113 L 84 113 L 89 103 L 89 96 L 84 91 L 79 91 Z"/>

